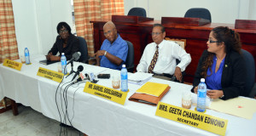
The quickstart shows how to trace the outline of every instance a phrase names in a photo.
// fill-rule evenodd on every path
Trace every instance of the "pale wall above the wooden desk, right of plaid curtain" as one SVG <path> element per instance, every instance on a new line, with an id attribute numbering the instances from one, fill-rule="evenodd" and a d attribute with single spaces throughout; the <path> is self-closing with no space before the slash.
<path id="1" fill-rule="evenodd" d="M 125 14 L 133 7 L 145 8 L 154 20 L 162 16 L 183 17 L 189 8 L 208 8 L 215 23 L 256 20 L 255 0 L 125 0 Z"/>

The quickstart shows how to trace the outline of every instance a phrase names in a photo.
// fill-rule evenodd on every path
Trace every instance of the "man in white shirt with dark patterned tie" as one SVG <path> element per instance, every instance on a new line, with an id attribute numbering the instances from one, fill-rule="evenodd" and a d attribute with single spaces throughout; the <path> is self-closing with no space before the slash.
<path id="1" fill-rule="evenodd" d="M 174 76 L 182 82 L 182 71 L 185 71 L 191 62 L 190 54 L 187 54 L 176 42 L 164 40 L 165 37 L 165 27 L 154 24 L 152 31 L 154 42 L 149 43 L 144 49 L 137 71 L 154 73 L 154 76 L 163 79 L 171 79 Z M 179 64 L 176 64 L 176 59 L 180 60 Z"/>

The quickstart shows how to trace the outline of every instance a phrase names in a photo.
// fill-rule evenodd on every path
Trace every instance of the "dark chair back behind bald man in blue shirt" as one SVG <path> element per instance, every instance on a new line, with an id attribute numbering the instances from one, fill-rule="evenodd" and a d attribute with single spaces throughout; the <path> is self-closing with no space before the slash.
<path id="1" fill-rule="evenodd" d="M 126 41 L 126 40 L 125 40 Z M 128 45 L 128 54 L 125 60 L 125 66 L 127 71 L 133 72 L 134 68 L 134 48 L 131 42 L 126 41 Z"/>

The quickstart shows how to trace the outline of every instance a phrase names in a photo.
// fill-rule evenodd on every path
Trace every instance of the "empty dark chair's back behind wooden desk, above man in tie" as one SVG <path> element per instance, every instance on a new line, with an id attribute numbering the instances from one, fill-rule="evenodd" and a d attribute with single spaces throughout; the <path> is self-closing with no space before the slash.
<path id="1" fill-rule="evenodd" d="M 201 18 L 210 20 L 212 22 L 211 13 L 207 8 L 190 8 L 185 16 L 185 18 Z"/>

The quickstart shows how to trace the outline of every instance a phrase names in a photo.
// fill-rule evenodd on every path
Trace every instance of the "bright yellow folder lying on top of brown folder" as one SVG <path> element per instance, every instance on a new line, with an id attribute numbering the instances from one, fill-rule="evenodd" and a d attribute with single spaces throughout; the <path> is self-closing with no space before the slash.
<path id="1" fill-rule="evenodd" d="M 137 89 L 136 93 L 148 94 L 159 97 L 166 88 L 169 87 L 168 84 L 156 83 L 156 82 L 146 82 L 142 88 Z"/>

